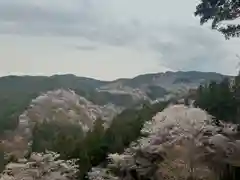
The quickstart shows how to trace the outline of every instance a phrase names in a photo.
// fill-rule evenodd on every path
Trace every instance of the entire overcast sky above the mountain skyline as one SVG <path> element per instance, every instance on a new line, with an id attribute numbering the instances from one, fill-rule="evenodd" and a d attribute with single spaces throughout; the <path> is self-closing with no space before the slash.
<path id="1" fill-rule="evenodd" d="M 236 74 L 240 39 L 200 26 L 198 1 L 1 0 L 0 76 L 102 80 L 165 71 Z"/>

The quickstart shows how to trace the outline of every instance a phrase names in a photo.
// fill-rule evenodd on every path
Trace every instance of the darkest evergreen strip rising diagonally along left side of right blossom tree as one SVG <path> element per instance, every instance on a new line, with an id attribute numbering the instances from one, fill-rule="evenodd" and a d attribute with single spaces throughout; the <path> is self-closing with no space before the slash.
<path id="1" fill-rule="evenodd" d="M 81 152 L 78 157 L 80 159 L 80 171 L 82 172 L 81 178 L 85 177 L 85 173 L 92 166 L 104 163 L 109 153 L 120 153 L 132 141 L 139 138 L 144 123 L 151 120 L 166 105 L 167 103 L 160 103 L 152 106 L 145 105 L 139 110 L 125 110 L 113 119 L 111 126 L 106 131 L 103 131 L 101 123 L 96 122 L 93 131 L 87 134 L 81 146 L 79 146 L 84 148 L 84 152 L 82 149 L 76 149 L 76 152 Z M 76 152 L 75 154 L 78 154 Z"/>

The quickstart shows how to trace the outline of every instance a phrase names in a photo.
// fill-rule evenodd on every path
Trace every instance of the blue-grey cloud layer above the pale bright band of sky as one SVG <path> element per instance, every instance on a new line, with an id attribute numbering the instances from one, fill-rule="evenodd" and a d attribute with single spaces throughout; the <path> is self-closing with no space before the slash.
<path id="1" fill-rule="evenodd" d="M 161 65 L 174 70 L 233 72 L 239 41 L 227 42 L 219 33 L 200 27 L 193 17 L 196 2 L 174 3 L 2 0 L 0 34 L 81 37 L 98 45 L 75 42 L 72 47 L 79 51 L 93 51 L 101 46 L 125 47 L 152 53 Z"/>

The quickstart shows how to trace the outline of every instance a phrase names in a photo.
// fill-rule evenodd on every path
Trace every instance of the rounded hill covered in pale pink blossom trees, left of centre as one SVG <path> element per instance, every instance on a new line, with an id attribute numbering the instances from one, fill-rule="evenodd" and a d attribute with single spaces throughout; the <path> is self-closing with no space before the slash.
<path id="1" fill-rule="evenodd" d="M 108 127 L 114 116 L 121 111 L 121 108 L 113 104 L 95 105 L 71 90 L 47 91 L 31 101 L 18 117 L 16 128 L 10 133 L 5 133 L 2 145 L 5 152 L 21 156 L 28 150 L 35 126 L 45 125 L 47 128 L 53 125 L 58 126 L 61 131 L 75 126 L 78 127 L 79 134 L 80 131 L 84 134 L 92 129 L 98 118 Z"/>

